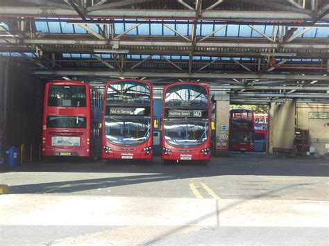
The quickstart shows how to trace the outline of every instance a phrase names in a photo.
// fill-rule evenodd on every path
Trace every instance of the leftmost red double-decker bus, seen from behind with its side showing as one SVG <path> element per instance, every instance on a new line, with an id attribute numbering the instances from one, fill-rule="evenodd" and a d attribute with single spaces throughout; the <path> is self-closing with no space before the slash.
<path id="1" fill-rule="evenodd" d="M 101 157 L 103 94 L 74 80 L 48 82 L 42 156 Z"/>

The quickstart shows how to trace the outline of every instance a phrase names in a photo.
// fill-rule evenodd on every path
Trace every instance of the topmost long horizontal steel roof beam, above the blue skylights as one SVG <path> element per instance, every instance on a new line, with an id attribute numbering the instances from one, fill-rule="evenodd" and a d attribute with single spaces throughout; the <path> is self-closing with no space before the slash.
<path id="1" fill-rule="evenodd" d="M 26 7 L 26 6 L 1 6 L 0 16 L 7 17 L 75 17 L 78 14 L 74 10 L 61 8 L 52 8 L 44 6 Z M 134 10 L 134 9 L 107 9 L 96 10 L 85 13 L 85 17 L 121 17 L 121 18 L 164 18 L 164 19 L 192 19 L 196 17 L 195 10 Z M 201 19 L 253 19 L 255 20 L 278 20 L 287 21 L 312 21 L 310 15 L 296 13 L 291 11 L 219 11 L 205 10 L 202 12 Z M 328 21 L 329 15 L 322 18 L 322 21 Z"/>

